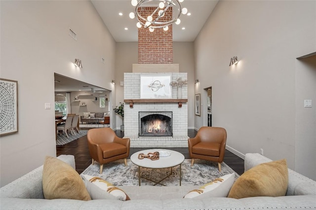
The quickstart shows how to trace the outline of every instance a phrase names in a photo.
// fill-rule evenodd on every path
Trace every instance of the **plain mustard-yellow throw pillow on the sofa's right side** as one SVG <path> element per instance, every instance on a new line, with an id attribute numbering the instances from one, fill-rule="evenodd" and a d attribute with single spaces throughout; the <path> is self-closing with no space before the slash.
<path id="1" fill-rule="evenodd" d="M 284 196 L 288 185 L 286 160 L 259 164 L 243 173 L 234 183 L 229 198 Z"/>

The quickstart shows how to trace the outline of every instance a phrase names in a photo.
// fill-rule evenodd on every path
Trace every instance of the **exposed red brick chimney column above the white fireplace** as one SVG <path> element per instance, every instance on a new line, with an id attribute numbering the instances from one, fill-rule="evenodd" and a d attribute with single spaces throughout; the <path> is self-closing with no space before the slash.
<path id="1" fill-rule="evenodd" d="M 139 8 L 139 12 L 147 17 L 155 9 L 156 7 Z M 154 15 L 153 19 L 156 17 Z M 161 19 L 169 20 L 171 17 L 172 7 L 169 7 Z M 138 29 L 138 63 L 173 63 L 172 25 L 167 31 L 162 28 L 153 32 L 144 27 Z"/>

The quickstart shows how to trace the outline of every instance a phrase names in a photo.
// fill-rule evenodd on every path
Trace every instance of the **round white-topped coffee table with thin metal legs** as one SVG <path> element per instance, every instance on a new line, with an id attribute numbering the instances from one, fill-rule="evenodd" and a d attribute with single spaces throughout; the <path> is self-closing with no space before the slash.
<path id="1" fill-rule="evenodd" d="M 138 159 L 139 153 L 148 154 L 149 152 L 153 153 L 155 151 L 165 151 L 166 153 L 170 152 L 170 156 L 159 155 L 158 160 L 151 160 L 149 158 Z M 165 180 L 166 178 L 171 176 L 172 167 L 178 166 L 178 165 L 180 165 L 180 175 L 179 175 L 180 177 L 179 177 L 179 179 L 180 179 L 180 186 L 181 186 L 181 180 L 182 180 L 181 164 L 184 161 L 184 155 L 181 154 L 180 152 L 177 152 L 174 150 L 163 150 L 163 149 L 141 150 L 141 151 L 138 151 L 138 152 L 135 152 L 134 154 L 132 154 L 130 156 L 130 160 L 132 163 L 134 163 L 135 165 L 138 166 L 138 184 L 139 184 L 139 186 L 140 186 L 140 179 L 144 178 L 144 177 L 141 177 L 141 167 L 144 167 L 144 168 L 170 168 L 170 170 L 171 170 L 170 175 L 162 179 L 162 180 Z M 147 178 L 144 178 L 144 179 L 150 180 Z M 162 180 L 159 180 L 159 181 L 150 180 L 150 181 L 155 182 L 154 185 L 157 185 L 157 184 L 161 184 L 160 182 Z M 161 185 L 164 185 L 164 184 L 161 184 Z"/>

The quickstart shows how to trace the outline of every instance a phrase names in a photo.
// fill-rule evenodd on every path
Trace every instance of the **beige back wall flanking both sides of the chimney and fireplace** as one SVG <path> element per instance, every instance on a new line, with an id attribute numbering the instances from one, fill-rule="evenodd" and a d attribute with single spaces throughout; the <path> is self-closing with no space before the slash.
<path id="1" fill-rule="evenodd" d="M 124 100 L 124 87 L 121 87 L 119 82 L 124 80 L 124 73 L 132 72 L 132 64 L 138 63 L 138 43 L 137 42 L 117 42 L 116 44 L 116 97 L 117 104 Z M 173 42 L 173 62 L 179 63 L 180 72 L 188 74 L 188 119 L 194 117 L 194 45 L 193 42 Z M 116 127 L 122 123 L 122 120 L 117 116 Z M 188 120 L 188 127 L 194 128 L 194 121 Z"/>

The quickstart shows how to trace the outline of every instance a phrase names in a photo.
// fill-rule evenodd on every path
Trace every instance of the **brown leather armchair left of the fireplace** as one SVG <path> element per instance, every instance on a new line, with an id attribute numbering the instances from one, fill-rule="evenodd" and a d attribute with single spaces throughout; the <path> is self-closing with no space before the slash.
<path id="1" fill-rule="evenodd" d="M 100 164 L 100 174 L 102 174 L 103 164 L 124 159 L 129 155 L 129 138 L 119 138 L 110 127 L 89 129 L 87 133 L 88 148 L 94 161 Z"/>

